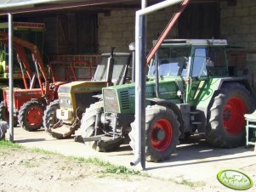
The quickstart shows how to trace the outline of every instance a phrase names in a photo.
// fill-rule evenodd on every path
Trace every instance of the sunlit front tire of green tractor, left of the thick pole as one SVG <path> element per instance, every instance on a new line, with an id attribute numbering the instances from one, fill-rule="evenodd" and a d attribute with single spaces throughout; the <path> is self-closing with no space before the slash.
<path id="1" fill-rule="evenodd" d="M 86 109 L 85 113 L 82 114 L 82 124 L 81 124 L 81 133 L 82 138 L 88 138 L 95 135 L 95 121 L 97 114 L 102 114 L 103 111 L 103 101 L 96 102 L 91 104 L 89 108 Z M 99 128 L 97 129 L 97 134 L 102 134 L 103 127 L 108 127 L 104 125 L 102 122 L 99 123 Z M 111 128 L 111 127 L 109 127 Z M 94 150 L 98 150 L 100 152 L 106 152 L 111 150 L 117 150 L 119 146 L 123 143 L 124 139 L 117 137 L 116 139 L 107 139 L 107 140 L 100 140 L 98 142 L 86 141 L 85 144 L 91 146 Z"/>

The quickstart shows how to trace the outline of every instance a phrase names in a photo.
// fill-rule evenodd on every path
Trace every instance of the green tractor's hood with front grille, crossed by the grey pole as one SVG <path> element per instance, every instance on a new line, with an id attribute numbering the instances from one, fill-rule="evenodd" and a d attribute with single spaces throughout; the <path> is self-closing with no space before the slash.
<path id="1" fill-rule="evenodd" d="M 159 95 L 161 99 L 170 100 L 176 104 L 180 103 L 177 92 L 183 80 L 177 78 L 161 78 L 159 81 Z M 179 86 L 178 86 L 179 85 Z M 108 113 L 134 113 L 135 85 L 125 84 L 103 88 L 104 109 Z M 151 80 L 146 82 L 146 98 L 156 98 L 156 82 Z M 149 103 L 149 101 L 147 101 Z"/>

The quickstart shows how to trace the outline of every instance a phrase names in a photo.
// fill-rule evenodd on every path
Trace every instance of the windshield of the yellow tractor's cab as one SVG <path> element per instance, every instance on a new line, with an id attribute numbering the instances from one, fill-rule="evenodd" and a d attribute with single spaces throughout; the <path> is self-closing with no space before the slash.
<path id="1" fill-rule="evenodd" d="M 108 58 L 110 55 L 102 55 L 100 59 L 100 63 L 97 65 L 97 70 L 94 74 L 93 81 L 105 82 L 106 81 L 106 73 L 107 73 L 107 64 Z M 114 55 L 114 66 L 113 66 L 113 74 L 112 74 L 112 82 L 114 84 L 118 84 L 122 77 L 124 76 L 124 72 L 126 70 L 126 66 L 128 64 L 128 54 L 127 55 Z"/>

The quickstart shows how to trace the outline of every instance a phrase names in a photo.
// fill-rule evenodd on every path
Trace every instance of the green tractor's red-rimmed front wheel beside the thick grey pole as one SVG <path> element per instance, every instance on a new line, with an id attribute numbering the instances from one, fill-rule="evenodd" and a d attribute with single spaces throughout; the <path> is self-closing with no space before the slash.
<path id="1" fill-rule="evenodd" d="M 130 146 L 135 152 L 135 127 L 132 123 L 129 133 Z M 179 144 L 179 121 L 174 110 L 161 106 L 150 105 L 145 109 L 145 160 L 168 160 Z"/>

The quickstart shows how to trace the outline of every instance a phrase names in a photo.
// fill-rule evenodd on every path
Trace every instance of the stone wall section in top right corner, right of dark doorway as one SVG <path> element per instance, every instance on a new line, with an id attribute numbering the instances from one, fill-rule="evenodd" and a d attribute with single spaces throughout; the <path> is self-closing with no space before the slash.
<path id="1" fill-rule="evenodd" d="M 237 0 L 236 6 L 221 3 L 221 37 L 230 45 L 256 49 L 256 1 Z"/>

